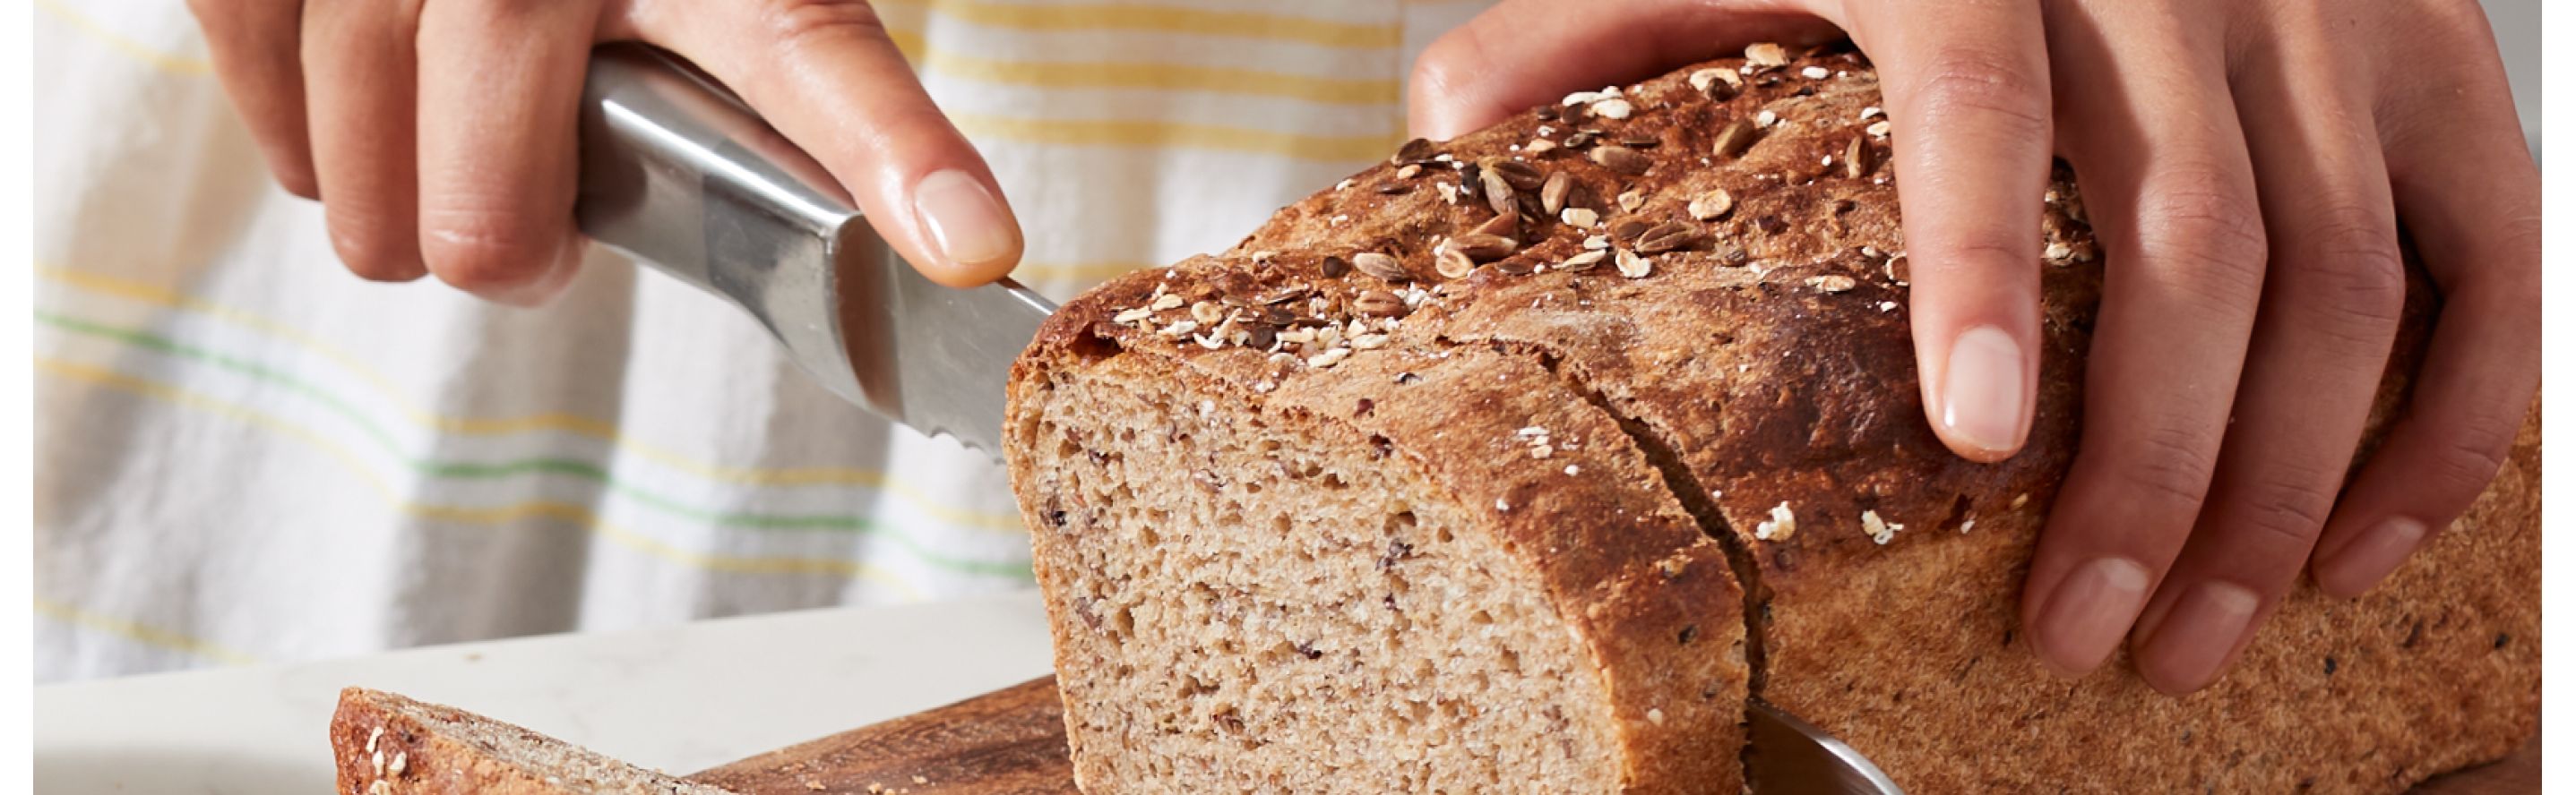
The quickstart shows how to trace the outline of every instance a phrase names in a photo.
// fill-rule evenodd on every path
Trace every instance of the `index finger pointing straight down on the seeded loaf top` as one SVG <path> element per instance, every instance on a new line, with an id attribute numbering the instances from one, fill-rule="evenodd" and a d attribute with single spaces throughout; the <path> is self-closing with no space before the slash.
<path id="1" fill-rule="evenodd" d="M 1873 3 L 1852 21 L 1896 129 L 1924 412 L 1971 461 L 2022 448 L 2040 378 L 2043 23 L 2025 0 Z"/>

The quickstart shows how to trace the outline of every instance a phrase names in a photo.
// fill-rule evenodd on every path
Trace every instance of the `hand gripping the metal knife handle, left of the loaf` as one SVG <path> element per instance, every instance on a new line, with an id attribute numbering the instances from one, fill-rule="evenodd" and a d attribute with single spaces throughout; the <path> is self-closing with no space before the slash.
<path id="1" fill-rule="evenodd" d="M 940 116 L 868 3 L 191 0 L 270 172 L 319 198 L 374 280 L 541 304 L 572 280 L 590 46 L 647 41 L 721 80 L 817 162 L 930 280 L 1020 262 L 984 157 Z"/>

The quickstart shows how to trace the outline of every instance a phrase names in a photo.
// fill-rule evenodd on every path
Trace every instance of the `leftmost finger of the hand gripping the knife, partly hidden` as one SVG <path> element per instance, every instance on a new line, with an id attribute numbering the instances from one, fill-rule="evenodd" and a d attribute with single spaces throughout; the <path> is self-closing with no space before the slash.
<path id="1" fill-rule="evenodd" d="M 224 95 L 260 142 L 268 172 L 286 193 L 319 198 L 312 144 L 304 136 L 304 64 L 296 62 L 304 5 L 191 0 L 188 10 L 206 31 L 214 75 L 224 80 Z"/>

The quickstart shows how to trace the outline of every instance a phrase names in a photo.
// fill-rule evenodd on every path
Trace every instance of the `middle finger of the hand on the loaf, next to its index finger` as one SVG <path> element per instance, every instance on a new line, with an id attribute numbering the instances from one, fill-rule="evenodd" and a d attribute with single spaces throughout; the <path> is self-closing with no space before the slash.
<path id="1" fill-rule="evenodd" d="M 2200 515 L 2264 280 L 2215 23 L 2141 5 L 2050 18 L 2061 134 L 2110 250 L 2084 437 L 2022 594 L 2030 648 L 2107 659 Z"/>

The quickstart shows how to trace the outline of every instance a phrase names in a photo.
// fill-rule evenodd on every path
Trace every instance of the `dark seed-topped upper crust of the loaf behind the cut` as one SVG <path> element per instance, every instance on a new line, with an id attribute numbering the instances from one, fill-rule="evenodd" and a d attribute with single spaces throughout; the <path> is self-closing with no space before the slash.
<path id="1" fill-rule="evenodd" d="M 1409 142 L 1224 255 L 1087 293 L 1048 334 L 1260 355 L 1275 381 L 1391 345 L 1535 350 L 1651 425 L 1752 545 L 1873 548 L 2045 504 L 2099 293 L 2074 185 L 2048 188 L 2032 262 L 2040 427 L 1976 466 L 1922 419 L 1886 160 L 1857 51 L 1754 46 Z"/>

